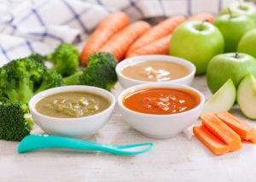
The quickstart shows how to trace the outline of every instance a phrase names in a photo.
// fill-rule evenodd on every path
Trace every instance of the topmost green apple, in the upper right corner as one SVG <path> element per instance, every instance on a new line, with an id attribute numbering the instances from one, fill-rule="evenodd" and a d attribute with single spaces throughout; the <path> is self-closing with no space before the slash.
<path id="1" fill-rule="evenodd" d="M 220 14 L 229 14 L 229 9 L 232 14 L 245 15 L 251 18 L 256 23 L 256 7 L 253 3 L 236 2 L 231 3 L 229 7 L 223 9 Z"/>

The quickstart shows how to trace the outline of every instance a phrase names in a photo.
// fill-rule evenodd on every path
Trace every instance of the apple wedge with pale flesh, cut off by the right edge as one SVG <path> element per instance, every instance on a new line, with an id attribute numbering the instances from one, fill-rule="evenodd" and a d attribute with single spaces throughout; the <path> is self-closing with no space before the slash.
<path id="1" fill-rule="evenodd" d="M 256 80 L 252 74 L 241 80 L 237 88 L 237 103 L 246 117 L 256 119 Z"/>

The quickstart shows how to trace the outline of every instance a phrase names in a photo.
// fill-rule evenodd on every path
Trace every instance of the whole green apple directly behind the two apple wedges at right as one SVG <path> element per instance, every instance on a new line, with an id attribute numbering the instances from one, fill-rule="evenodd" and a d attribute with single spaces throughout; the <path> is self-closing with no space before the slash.
<path id="1" fill-rule="evenodd" d="M 241 53 L 237 57 L 236 53 L 219 54 L 207 66 L 207 85 L 214 94 L 231 78 L 237 88 L 241 79 L 249 73 L 256 77 L 256 60 L 253 56 Z"/>

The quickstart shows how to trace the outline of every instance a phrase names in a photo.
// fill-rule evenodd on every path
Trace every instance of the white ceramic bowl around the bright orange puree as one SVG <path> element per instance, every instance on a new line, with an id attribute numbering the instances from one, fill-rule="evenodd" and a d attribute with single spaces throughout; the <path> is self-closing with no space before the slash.
<path id="1" fill-rule="evenodd" d="M 123 105 L 123 100 L 127 94 L 131 94 L 143 88 L 186 88 L 200 97 L 200 104 L 195 108 L 177 114 L 154 115 L 144 114 L 137 111 L 132 111 Z M 170 84 L 166 82 L 155 82 L 141 84 L 126 88 L 119 94 L 118 104 L 119 109 L 126 122 L 142 134 L 154 139 L 168 139 L 180 134 L 184 129 L 189 128 L 201 115 L 202 106 L 205 98 L 195 88 L 191 88 L 181 84 Z"/>

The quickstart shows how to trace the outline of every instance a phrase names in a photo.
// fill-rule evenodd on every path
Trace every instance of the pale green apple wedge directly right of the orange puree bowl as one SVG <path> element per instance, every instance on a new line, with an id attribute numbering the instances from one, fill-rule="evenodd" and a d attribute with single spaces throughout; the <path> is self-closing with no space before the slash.
<path id="1" fill-rule="evenodd" d="M 209 112 L 229 111 L 236 101 L 236 87 L 231 79 L 226 81 L 203 106 L 202 115 Z"/>

